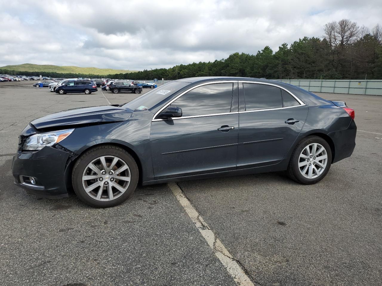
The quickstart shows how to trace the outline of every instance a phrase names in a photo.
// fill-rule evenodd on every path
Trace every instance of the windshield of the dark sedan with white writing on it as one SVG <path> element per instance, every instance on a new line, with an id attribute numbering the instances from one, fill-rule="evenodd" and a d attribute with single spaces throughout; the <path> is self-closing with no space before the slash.
<path id="1" fill-rule="evenodd" d="M 142 94 L 136 99 L 124 104 L 123 107 L 132 110 L 149 109 L 151 111 L 151 109 L 161 104 L 161 102 L 168 98 L 168 96 L 171 96 L 186 85 L 189 85 L 189 82 L 168 82 L 167 84 L 163 84 Z"/>

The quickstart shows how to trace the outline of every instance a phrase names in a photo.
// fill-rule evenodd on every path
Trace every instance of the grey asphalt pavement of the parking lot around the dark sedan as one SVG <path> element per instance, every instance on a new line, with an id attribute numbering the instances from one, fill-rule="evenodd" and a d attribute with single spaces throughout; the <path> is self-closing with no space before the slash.
<path id="1" fill-rule="evenodd" d="M 31 120 L 136 96 L 61 96 L 33 83 L 0 83 L 0 285 L 236 284 L 167 184 L 110 209 L 15 186 L 11 156 Z M 346 101 L 358 126 L 353 156 L 321 182 L 279 172 L 178 183 L 255 285 L 382 284 L 382 97 L 319 95 Z"/>

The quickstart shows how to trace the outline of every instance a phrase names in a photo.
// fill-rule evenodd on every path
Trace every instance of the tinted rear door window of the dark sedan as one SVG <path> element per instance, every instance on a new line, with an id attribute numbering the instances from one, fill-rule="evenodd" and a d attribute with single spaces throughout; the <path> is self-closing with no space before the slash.
<path id="1" fill-rule="evenodd" d="M 282 108 L 281 89 L 265 84 L 243 84 L 245 110 Z"/>

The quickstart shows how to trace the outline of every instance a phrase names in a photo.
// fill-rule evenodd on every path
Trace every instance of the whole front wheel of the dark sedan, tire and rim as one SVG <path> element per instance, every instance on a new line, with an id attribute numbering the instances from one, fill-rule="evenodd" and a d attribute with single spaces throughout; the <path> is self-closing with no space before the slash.
<path id="1" fill-rule="evenodd" d="M 102 145 L 90 149 L 76 162 L 72 184 L 78 198 L 93 207 L 114 207 L 134 193 L 139 170 L 124 149 Z"/>

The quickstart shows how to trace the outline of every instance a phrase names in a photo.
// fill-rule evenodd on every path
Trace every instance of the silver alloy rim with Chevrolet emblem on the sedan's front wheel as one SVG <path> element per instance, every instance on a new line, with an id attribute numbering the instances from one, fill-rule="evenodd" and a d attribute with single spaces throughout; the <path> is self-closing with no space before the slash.
<path id="1" fill-rule="evenodd" d="M 82 175 L 86 193 L 97 201 L 112 201 L 127 190 L 131 180 L 128 164 L 117 156 L 101 156 L 90 162 Z"/>

